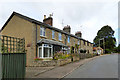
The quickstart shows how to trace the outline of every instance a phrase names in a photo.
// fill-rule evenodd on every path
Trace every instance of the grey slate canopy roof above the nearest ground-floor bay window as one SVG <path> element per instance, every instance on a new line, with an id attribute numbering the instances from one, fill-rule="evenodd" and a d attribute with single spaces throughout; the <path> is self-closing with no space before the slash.
<path id="1" fill-rule="evenodd" d="M 49 40 L 49 39 L 40 39 L 39 41 L 37 41 L 37 44 L 40 44 L 40 43 L 47 43 L 47 44 L 59 45 L 59 46 L 67 47 L 66 45 L 64 45 L 61 42 L 53 41 L 53 40 Z"/>

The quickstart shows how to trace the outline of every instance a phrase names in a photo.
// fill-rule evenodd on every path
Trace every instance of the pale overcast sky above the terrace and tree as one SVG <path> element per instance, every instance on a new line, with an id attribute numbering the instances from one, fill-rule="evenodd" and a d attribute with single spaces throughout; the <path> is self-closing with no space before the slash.
<path id="1" fill-rule="evenodd" d="M 109 25 L 118 41 L 119 0 L 0 0 L 0 28 L 13 11 L 43 21 L 53 13 L 53 26 L 71 26 L 71 33 L 82 32 L 82 38 L 93 42 L 97 31 Z M 63 22 L 63 25 L 62 25 Z"/>

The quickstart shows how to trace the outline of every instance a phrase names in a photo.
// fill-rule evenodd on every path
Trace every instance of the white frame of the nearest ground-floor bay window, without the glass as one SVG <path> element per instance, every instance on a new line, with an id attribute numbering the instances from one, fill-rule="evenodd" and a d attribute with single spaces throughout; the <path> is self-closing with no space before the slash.
<path id="1" fill-rule="evenodd" d="M 53 56 L 53 45 L 51 45 L 51 47 L 49 47 L 49 46 L 45 46 L 46 44 L 42 44 L 42 46 L 38 46 L 38 57 L 39 58 L 52 58 L 52 56 Z M 48 44 L 48 45 L 50 45 L 50 44 Z M 47 47 L 47 48 L 51 48 L 51 57 L 49 57 L 49 49 L 48 49 L 48 57 L 44 57 L 44 48 L 45 47 Z M 39 48 L 42 48 L 42 57 L 40 57 L 40 53 L 39 53 Z"/>

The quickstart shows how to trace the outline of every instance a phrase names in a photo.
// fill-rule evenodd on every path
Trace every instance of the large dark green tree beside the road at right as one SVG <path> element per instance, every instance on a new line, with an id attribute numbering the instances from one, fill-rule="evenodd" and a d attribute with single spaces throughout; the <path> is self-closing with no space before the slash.
<path id="1" fill-rule="evenodd" d="M 97 36 L 94 38 L 94 46 L 100 47 L 108 51 L 112 51 L 116 45 L 116 39 L 114 37 L 115 31 L 108 25 L 103 26 L 98 32 Z M 101 40 L 102 39 L 102 40 Z M 104 41 L 103 41 L 104 39 Z M 104 44 L 103 44 L 104 43 Z"/>

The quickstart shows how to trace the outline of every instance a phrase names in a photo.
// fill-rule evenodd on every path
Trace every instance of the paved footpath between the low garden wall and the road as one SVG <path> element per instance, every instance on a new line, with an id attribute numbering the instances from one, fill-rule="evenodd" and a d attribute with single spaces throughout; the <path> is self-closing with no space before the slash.
<path id="1" fill-rule="evenodd" d="M 45 70 L 43 70 L 42 67 L 38 67 L 38 69 L 35 71 L 34 70 L 30 71 L 29 69 L 27 69 L 26 78 L 63 78 L 69 73 L 71 73 L 72 71 L 74 71 L 75 69 L 79 68 L 81 65 L 97 57 L 99 56 L 83 59 L 77 62 L 72 62 L 64 66 L 48 67 Z M 42 73 L 41 73 L 41 70 L 43 71 Z"/>

